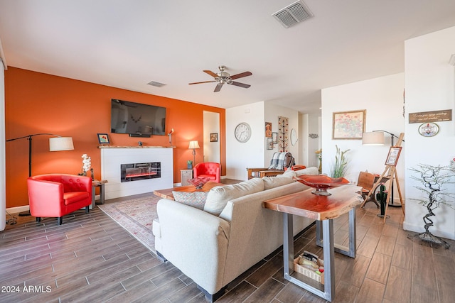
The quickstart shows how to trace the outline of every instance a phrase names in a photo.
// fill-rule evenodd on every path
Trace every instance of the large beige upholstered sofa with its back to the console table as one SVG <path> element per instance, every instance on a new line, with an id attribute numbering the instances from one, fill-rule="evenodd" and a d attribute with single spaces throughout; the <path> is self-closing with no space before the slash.
<path id="1" fill-rule="evenodd" d="M 317 167 L 298 171 L 317 175 Z M 157 205 L 155 248 L 215 301 L 229 282 L 283 244 L 282 214 L 262 202 L 309 189 L 295 172 L 214 187 L 203 210 L 168 199 Z M 313 220 L 294 216 L 294 234 Z"/>

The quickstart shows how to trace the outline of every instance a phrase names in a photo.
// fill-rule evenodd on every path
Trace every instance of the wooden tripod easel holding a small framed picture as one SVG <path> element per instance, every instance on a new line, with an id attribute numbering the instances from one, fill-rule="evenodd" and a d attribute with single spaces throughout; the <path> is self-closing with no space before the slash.
<path id="1" fill-rule="evenodd" d="M 398 182 L 398 175 L 397 175 L 397 163 L 398 159 L 400 158 L 400 153 L 401 153 L 401 143 L 403 141 L 403 138 L 405 137 L 405 133 L 400 133 L 400 138 L 398 138 L 398 142 L 396 145 L 390 147 L 389 153 L 387 154 L 387 158 L 385 159 L 385 170 L 382 172 L 382 175 L 378 178 L 378 181 L 373 184 L 372 189 L 368 193 L 368 195 L 365 197 L 365 200 L 363 201 L 363 205 L 370 199 L 371 194 L 373 194 L 374 189 L 380 184 L 382 177 L 390 177 L 391 182 L 389 182 L 389 187 L 387 188 L 387 197 L 385 198 L 385 201 L 389 201 L 390 199 L 390 194 L 392 194 L 393 190 L 393 182 L 395 181 L 397 183 L 397 191 L 400 196 L 400 203 L 402 205 L 402 211 L 403 214 L 405 214 L 405 203 L 403 202 L 402 194 L 401 194 L 401 189 L 400 189 L 400 183 Z M 384 223 L 385 219 L 387 219 L 387 209 L 388 209 L 389 204 L 386 204 L 385 206 L 385 214 L 384 214 Z"/>

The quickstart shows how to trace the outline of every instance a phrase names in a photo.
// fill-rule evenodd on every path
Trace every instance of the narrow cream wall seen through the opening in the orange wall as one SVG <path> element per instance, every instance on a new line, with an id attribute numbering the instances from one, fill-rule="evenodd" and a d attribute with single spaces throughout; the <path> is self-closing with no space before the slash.
<path id="1" fill-rule="evenodd" d="M 204 111 L 204 162 L 220 162 L 220 114 Z M 218 133 L 218 141 L 210 142 L 210 133 Z"/>

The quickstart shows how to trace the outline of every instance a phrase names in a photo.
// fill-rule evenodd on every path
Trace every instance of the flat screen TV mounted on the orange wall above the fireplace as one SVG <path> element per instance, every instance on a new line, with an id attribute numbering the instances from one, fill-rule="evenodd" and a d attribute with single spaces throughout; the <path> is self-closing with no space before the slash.
<path id="1" fill-rule="evenodd" d="M 111 100 L 111 132 L 130 136 L 166 135 L 166 107 Z"/>

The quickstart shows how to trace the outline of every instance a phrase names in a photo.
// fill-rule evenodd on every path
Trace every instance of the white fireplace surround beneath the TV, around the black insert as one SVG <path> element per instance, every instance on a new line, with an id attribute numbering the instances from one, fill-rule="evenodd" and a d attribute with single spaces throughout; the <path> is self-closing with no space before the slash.
<path id="1" fill-rule="evenodd" d="M 173 146 L 112 146 L 100 145 L 101 179 L 106 199 L 154 192 L 173 187 Z M 161 162 L 161 177 L 120 182 L 120 165 L 141 162 Z"/>

